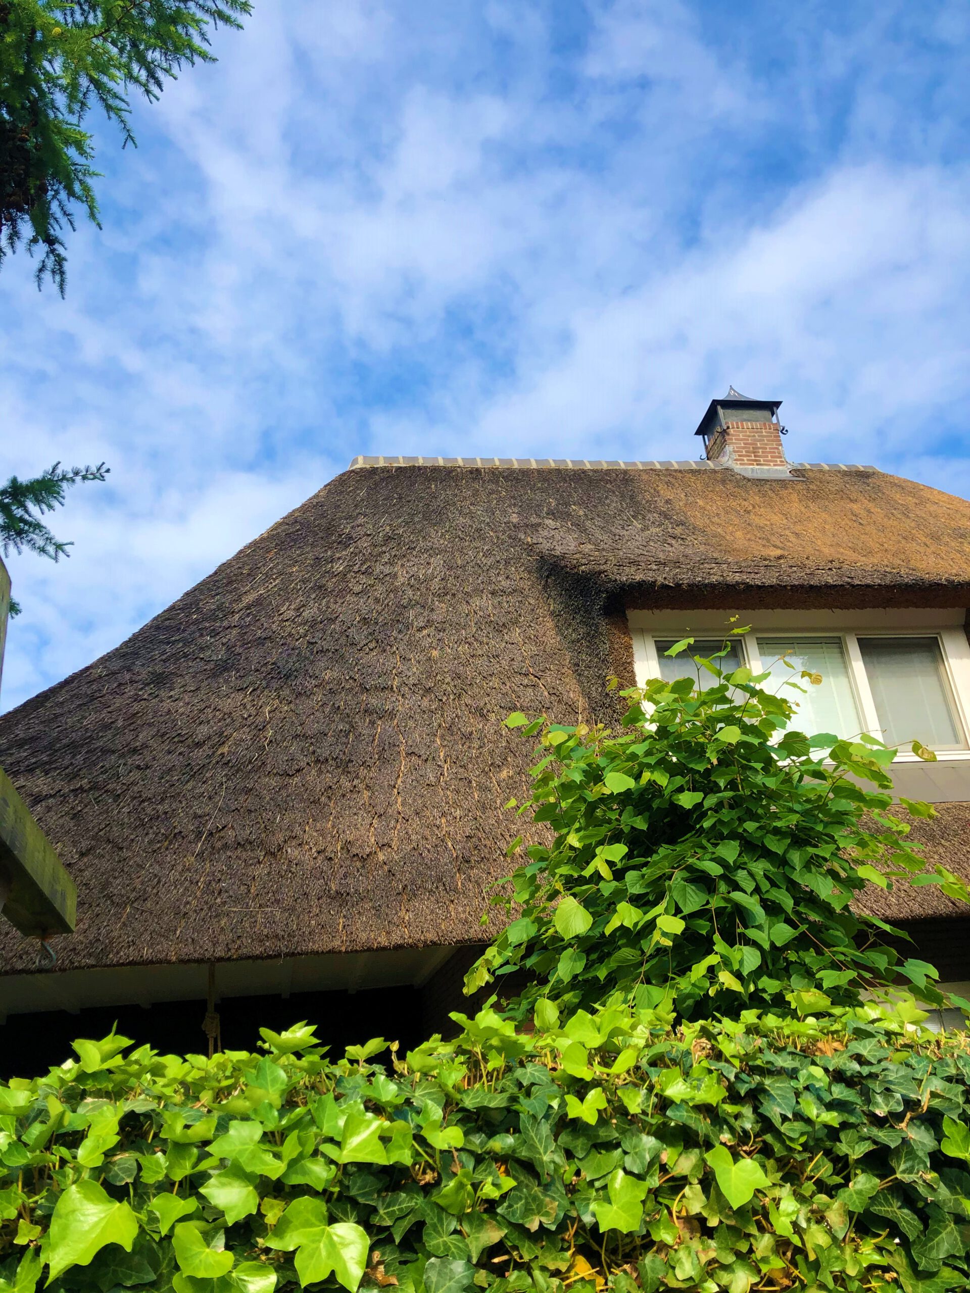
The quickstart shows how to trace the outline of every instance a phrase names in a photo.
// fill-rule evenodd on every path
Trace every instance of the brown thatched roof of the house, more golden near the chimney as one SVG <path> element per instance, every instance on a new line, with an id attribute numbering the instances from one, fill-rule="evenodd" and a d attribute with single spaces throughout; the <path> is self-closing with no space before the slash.
<path id="1" fill-rule="evenodd" d="M 529 756 L 501 720 L 610 718 L 626 604 L 966 606 L 970 504 L 872 469 L 345 472 L 0 720 L 78 883 L 59 965 L 480 939 Z M 969 816 L 929 831 L 960 865 Z"/>

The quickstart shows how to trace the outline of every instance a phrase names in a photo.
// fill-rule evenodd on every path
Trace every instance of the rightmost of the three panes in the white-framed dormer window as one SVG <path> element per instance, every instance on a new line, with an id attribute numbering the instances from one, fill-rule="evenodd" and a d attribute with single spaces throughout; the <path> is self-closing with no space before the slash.
<path id="1" fill-rule="evenodd" d="M 886 745 L 962 746 L 936 637 L 860 637 Z"/>

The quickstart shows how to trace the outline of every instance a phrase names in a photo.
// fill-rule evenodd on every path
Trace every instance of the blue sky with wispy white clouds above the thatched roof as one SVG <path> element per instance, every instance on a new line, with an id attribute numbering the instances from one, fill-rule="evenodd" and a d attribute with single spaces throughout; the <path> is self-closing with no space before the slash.
<path id="1" fill-rule="evenodd" d="M 256 0 L 100 132 L 67 297 L 0 274 L 0 472 L 106 459 L 10 557 L 10 707 L 358 453 L 789 454 L 970 494 L 962 3 Z"/>

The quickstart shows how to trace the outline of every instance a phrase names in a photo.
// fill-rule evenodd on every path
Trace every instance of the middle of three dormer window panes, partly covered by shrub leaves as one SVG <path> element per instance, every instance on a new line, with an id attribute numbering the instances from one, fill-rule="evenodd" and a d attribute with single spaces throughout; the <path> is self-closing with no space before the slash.
<path id="1" fill-rule="evenodd" d="M 859 733 L 861 721 L 841 637 L 759 637 L 758 650 L 762 668 L 770 670 L 776 683 L 771 690 L 798 706 L 793 723 L 801 732 L 807 736 L 817 732 L 833 732 L 835 736 Z M 781 663 L 781 656 L 794 666 L 794 671 Z M 821 683 L 816 687 L 807 678 L 799 678 L 803 668 L 810 674 L 821 674 Z M 794 687 L 777 685 L 789 681 L 803 687 L 806 694 Z"/>

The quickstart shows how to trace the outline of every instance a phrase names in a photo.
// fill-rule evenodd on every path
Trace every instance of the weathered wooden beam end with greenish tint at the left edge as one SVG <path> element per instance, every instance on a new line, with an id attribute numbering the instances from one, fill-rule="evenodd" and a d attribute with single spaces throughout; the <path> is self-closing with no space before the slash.
<path id="1" fill-rule="evenodd" d="M 71 934 L 78 890 L 0 768 L 0 908 L 30 937 Z"/>

